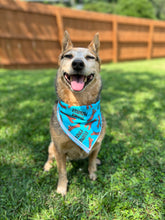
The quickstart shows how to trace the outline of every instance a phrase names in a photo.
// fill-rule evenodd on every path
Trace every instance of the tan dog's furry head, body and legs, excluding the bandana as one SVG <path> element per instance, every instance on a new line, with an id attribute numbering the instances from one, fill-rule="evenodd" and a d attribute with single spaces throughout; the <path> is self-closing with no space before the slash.
<path id="1" fill-rule="evenodd" d="M 99 37 L 95 35 L 88 48 L 74 48 L 68 32 L 65 32 L 63 39 L 62 53 L 59 57 L 59 69 L 56 77 L 56 92 L 58 101 L 62 100 L 70 106 L 91 105 L 100 99 L 101 77 Z M 89 177 L 92 180 L 97 178 L 97 159 L 101 142 L 105 135 L 106 122 L 102 116 L 101 133 L 94 144 L 92 150 L 87 154 L 77 146 L 62 130 L 57 120 L 57 104 L 53 108 L 50 121 L 51 143 L 49 145 L 49 156 L 45 163 L 44 170 L 49 171 L 52 167 L 53 159 L 56 159 L 59 180 L 57 192 L 66 195 L 67 173 L 66 159 L 78 160 L 89 156 Z"/>

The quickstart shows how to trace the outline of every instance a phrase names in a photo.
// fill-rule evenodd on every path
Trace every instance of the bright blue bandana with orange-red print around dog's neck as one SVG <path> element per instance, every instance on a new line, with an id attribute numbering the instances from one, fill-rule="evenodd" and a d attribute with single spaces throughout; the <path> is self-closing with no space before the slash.
<path id="1" fill-rule="evenodd" d="M 83 106 L 69 106 L 59 101 L 57 119 L 69 138 L 89 153 L 102 128 L 100 101 Z"/>

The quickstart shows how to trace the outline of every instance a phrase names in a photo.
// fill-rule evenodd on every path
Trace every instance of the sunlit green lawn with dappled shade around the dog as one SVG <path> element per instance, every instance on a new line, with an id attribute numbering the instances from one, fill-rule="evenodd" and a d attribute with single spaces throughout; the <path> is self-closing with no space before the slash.
<path id="1" fill-rule="evenodd" d="M 0 70 L 0 219 L 165 219 L 165 59 L 102 66 L 102 165 L 68 162 L 66 198 L 42 170 L 55 72 Z"/>

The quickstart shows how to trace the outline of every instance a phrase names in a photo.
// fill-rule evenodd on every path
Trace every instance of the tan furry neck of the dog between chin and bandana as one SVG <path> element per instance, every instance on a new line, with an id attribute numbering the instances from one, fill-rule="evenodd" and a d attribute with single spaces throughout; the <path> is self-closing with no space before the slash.
<path id="1" fill-rule="evenodd" d="M 58 85 L 58 86 L 57 86 Z M 86 88 L 82 92 L 73 92 L 64 84 L 61 79 L 57 78 L 56 92 L 59 100 L 62 100 L 71 106 L 90 105 L 97 102 L 100 99 L 101 92 L 101 78 L 90 87 Z"/>

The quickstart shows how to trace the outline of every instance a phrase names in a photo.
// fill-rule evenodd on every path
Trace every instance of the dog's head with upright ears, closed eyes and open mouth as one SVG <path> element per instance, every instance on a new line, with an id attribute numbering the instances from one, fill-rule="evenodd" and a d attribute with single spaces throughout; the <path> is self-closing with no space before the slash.
<path id="1" fill-rule="evenodd" d="M 100 71 L 99 46 L 99 35 L 96 34 L 88 48 L 73 47 L 65 31 L 59 57 L 59 73 L 72 92 L 81 92 L 97 80 Z"/>

